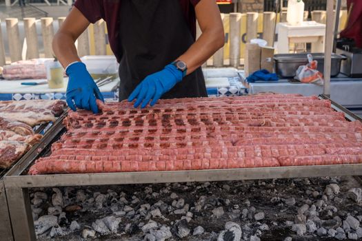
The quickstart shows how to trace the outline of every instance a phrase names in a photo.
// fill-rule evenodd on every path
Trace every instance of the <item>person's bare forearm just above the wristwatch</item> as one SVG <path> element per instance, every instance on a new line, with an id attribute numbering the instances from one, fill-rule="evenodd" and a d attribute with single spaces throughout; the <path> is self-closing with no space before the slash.
<path id="1" fill-rule="evenodd" d="M 197 39 L 197 41 L 191 45 L 191 47 L 184 54 L 179 56 L 179 60 L 188 65 L 188 72 L 190 74 L 200 67 L 210 56 L 212 56 L 219 48 L 224 45 L 224 33 L 223 29 L 210 29 L 205 30 Z"/>

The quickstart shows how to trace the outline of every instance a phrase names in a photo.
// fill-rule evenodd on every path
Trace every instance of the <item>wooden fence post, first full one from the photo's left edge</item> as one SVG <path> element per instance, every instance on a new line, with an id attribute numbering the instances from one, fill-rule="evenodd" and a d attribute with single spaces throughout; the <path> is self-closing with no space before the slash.
<path id="1" fill-rule="evenodd" d="M 19 20 L 6 19 L 6 31 L 8 33 L 8 43 L 10 50 L 10 59 L 12 62 L 21 60 L 21 43 L 19 36 Z"/>

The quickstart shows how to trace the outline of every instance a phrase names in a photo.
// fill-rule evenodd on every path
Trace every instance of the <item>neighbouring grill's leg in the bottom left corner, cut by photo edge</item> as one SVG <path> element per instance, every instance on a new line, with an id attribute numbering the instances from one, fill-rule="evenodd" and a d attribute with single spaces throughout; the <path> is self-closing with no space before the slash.
<path id="1" fill-rule="evenodd" d="M 0 237 L 3 241 L 13 241 L 8 202 L 6 201 L 5 187 L 0 181 Z"/>

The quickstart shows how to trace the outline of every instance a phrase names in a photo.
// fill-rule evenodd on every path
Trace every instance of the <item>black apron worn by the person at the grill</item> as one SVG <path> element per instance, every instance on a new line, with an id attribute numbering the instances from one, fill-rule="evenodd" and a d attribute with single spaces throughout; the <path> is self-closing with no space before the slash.
<path id="1" fill-rule="evenodd" d="M 179 0 L 122 0 L 119 101 L 149 74 L 163 70 L 194 43 Z M 208 96 L 201 67 L 161 98 Z"/>

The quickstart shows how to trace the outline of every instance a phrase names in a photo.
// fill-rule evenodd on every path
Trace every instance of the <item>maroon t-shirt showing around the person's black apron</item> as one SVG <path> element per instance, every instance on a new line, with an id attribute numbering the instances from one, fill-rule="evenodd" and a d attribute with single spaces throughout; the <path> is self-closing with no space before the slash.
<path id="1" fill-rule="evenodd" d="M 168 1 L 168 0 L 164 0 Z M 180 6 L 185 14 L 185 21 L 190 27 L 192 36 L 196 38 L 196 15 L 194 6 L 201 0 L 179 0 Z M 120 61 L 119 49 L 119 8 L 121 8 L 121 0 L 77 0 L 74 6 L 90 21 L 95 23 L 99 19 L 104 19 L 107 23 L 108 39 L 110 48 L 117 60 Z"/>

